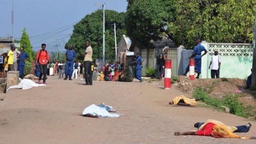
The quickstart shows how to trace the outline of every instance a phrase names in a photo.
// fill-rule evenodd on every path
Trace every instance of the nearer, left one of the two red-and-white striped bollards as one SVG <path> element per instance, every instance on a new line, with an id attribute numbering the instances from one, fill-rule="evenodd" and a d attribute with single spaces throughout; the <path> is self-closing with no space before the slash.
<path id="1" fill-rule="evenodd" d="M 166 59 L 164 65 L 164 89 L 170 90 L 172 80 L 172 60 Z"/>

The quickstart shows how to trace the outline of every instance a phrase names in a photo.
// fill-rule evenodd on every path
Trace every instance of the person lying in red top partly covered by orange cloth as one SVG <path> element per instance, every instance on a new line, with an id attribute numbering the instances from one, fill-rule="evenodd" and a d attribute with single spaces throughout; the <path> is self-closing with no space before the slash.
<path id="1" fill-rule="evenodd" d="M 256 136 L 238 136 L 234 133 L 246 133 L 250 130 L 252 124 L 249 122 L 247 125 L 242 126 L 226 126 L 217 120 L 207 120 L 206 122 L 197 122 L 194 127 L 198 131 L 189 132 L 175 132 L 174 135 L 204 135 L 212 136 L 214 138 L 240 138 L 240 139 L 256 139 Z"/>

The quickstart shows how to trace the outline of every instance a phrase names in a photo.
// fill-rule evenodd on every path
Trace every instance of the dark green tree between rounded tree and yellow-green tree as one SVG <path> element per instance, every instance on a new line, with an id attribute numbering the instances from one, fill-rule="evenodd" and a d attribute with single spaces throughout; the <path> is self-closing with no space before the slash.
<path id="1" fill-rule="evenodd" d="M 169 18 L 165 4 L 160 0 L 128 1 L 126 30 L 133 44 L 146 47 L 151 40 L 162 38 Z"/>

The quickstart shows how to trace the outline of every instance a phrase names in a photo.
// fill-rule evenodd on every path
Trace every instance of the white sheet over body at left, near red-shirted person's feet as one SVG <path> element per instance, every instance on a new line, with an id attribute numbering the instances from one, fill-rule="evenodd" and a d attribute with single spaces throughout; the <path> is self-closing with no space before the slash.
<path id="1" fill-rule="evenodd" d="M 45 84 L 36 84 L 30 79 L 23 79 L 18 85 L 10 86 L 6 93 L 10 90 L 10 88 L 22 88 L 22 90 L 27 90 L 29 88 L 32 88 L 33 86 L 46 86 Z"/>

